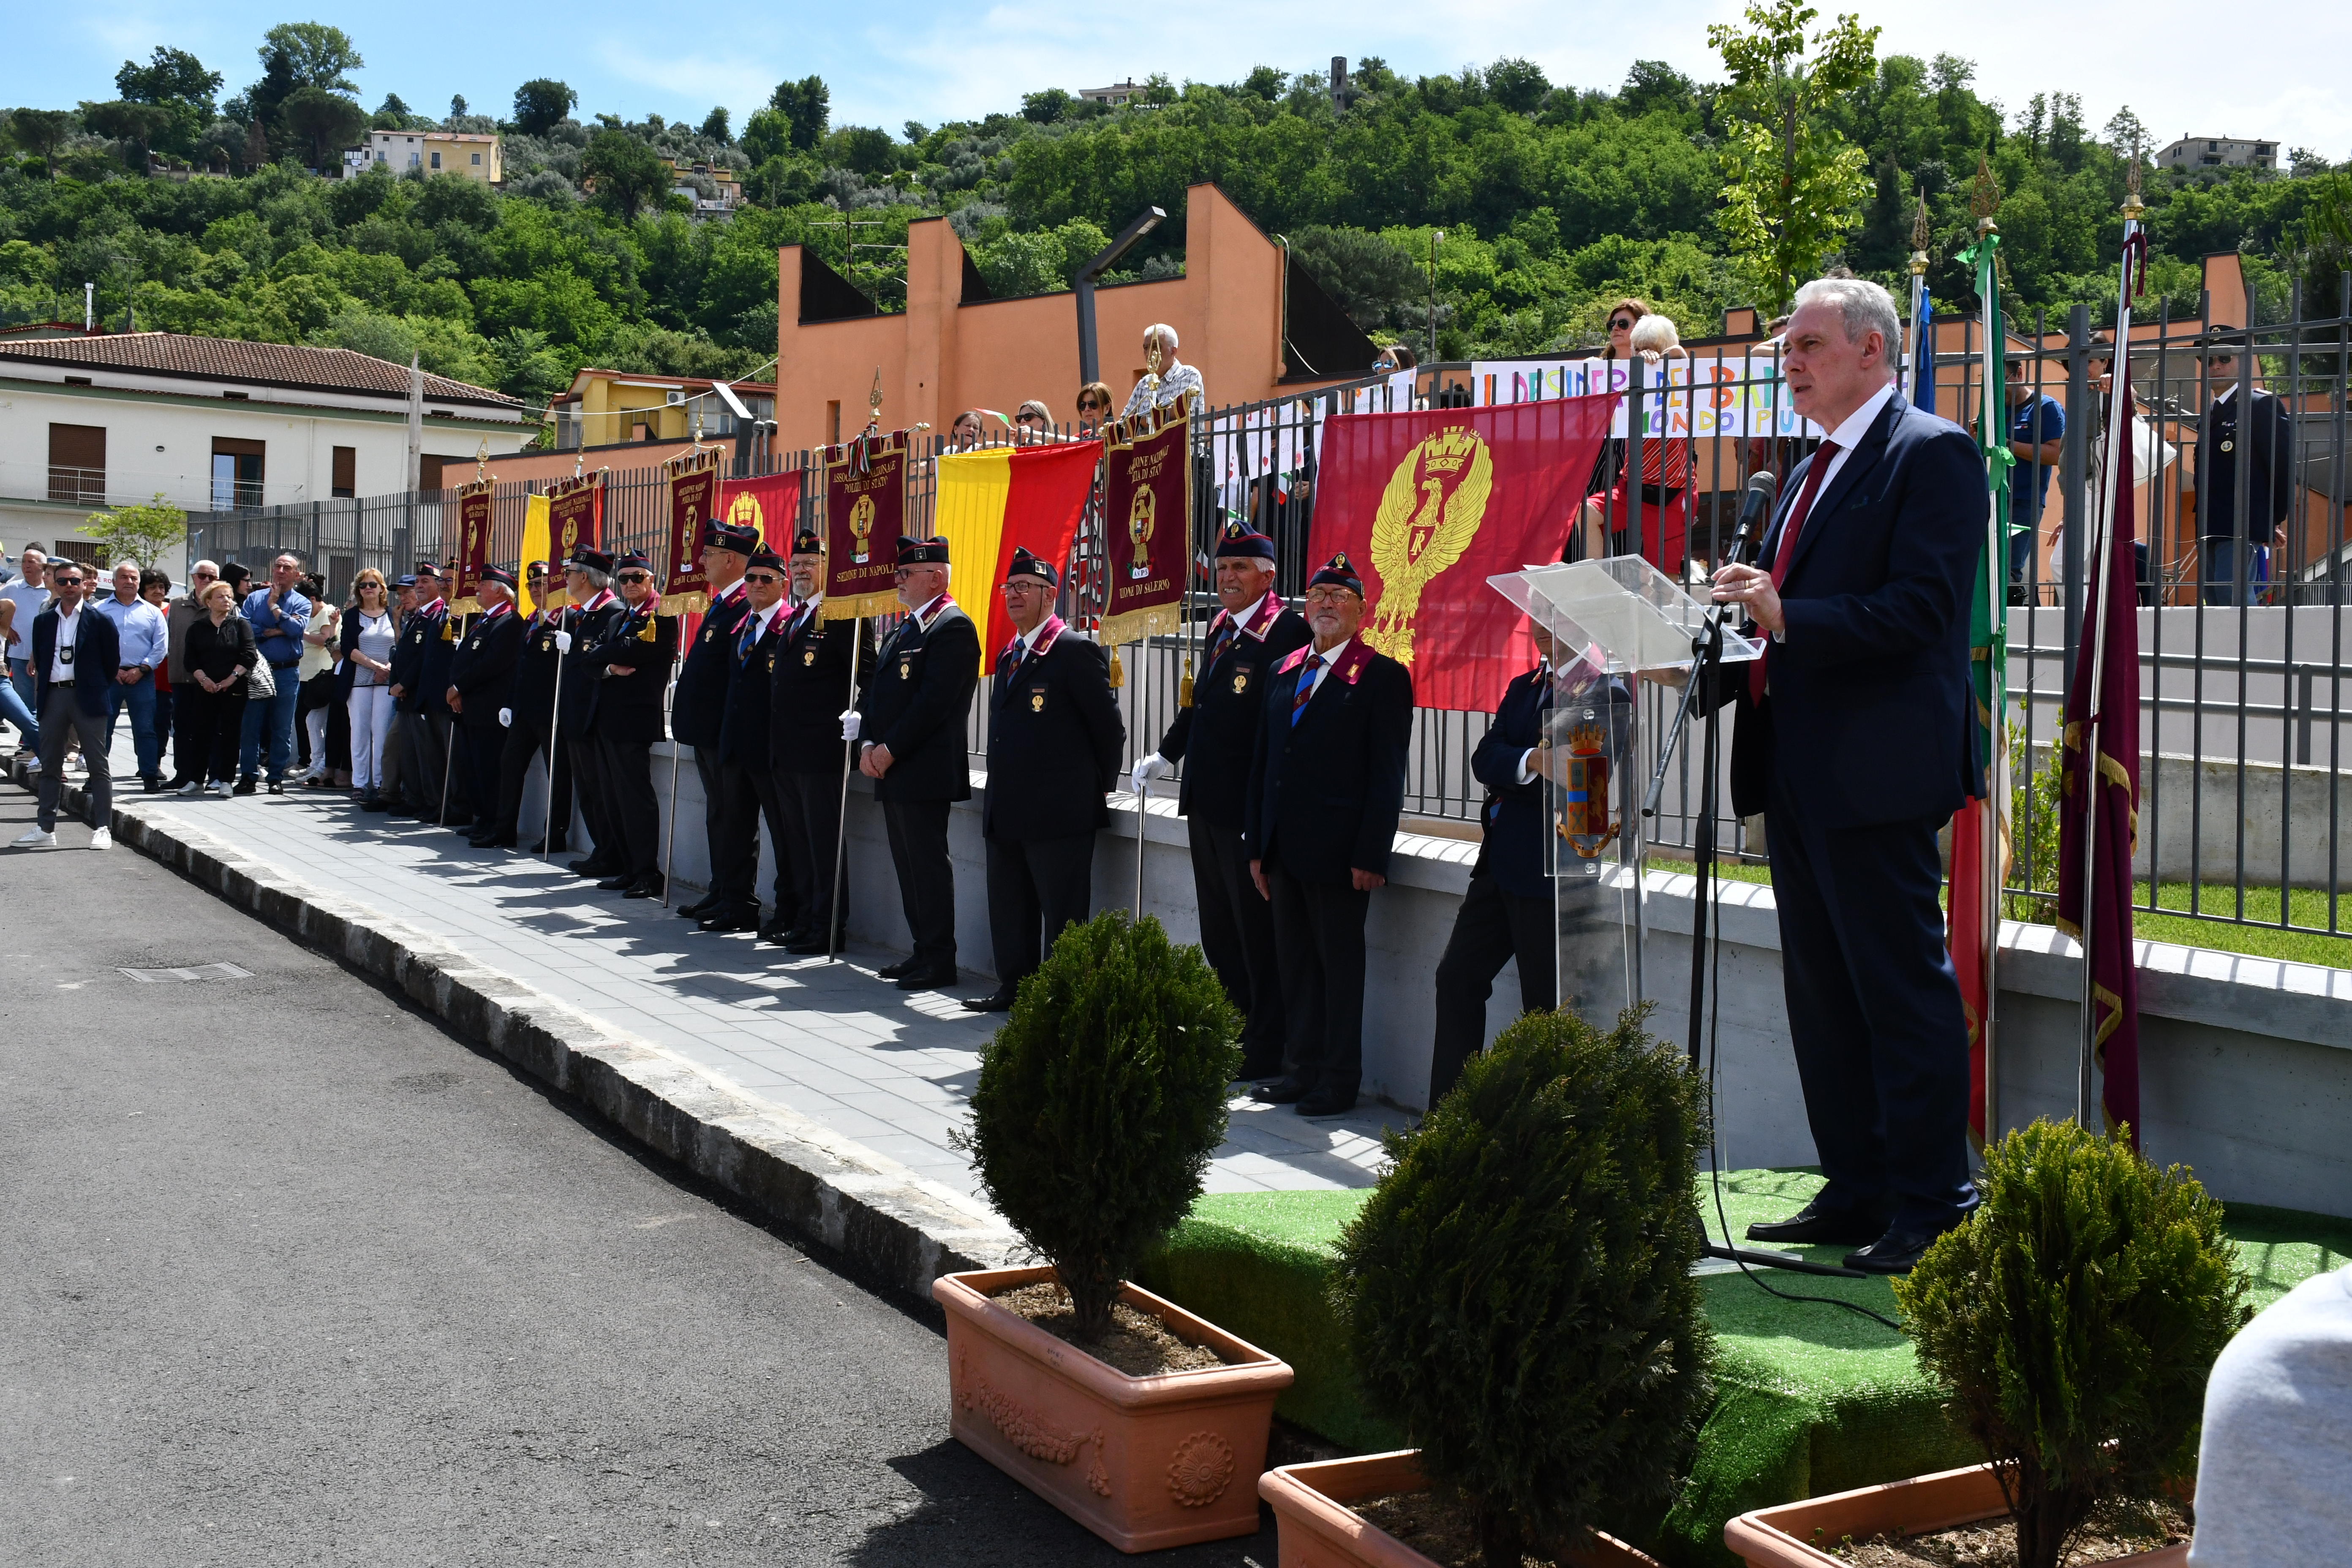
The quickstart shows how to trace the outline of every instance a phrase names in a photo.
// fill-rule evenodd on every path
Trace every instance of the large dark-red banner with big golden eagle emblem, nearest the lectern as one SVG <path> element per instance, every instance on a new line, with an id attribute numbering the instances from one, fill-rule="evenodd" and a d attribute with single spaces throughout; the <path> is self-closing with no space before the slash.
<path id="1" fill-rule="evenodd" d="M 1491 712 L 1536 663 L 1489 576 L 1557 562 L 1609 435 L 1613 393 L 1324 421 L 1308 571 L 1345 550 L 1369 646 L 1425 708 Z"/>

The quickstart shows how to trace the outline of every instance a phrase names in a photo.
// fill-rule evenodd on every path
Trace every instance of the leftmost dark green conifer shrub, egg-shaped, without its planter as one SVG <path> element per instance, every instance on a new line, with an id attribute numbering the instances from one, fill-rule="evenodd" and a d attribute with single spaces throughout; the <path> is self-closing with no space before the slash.
<path id="1" fill-rule="evenodd" d="M 1054 1265 L 1087 1340 L 1110 1331 L 1120 1281 L 1200 1197 L 1242 1070 L 1240 1023 L 1200 947 L 1105 910 L 1063 926 L 981 1051 L 960 1145 Z"/>

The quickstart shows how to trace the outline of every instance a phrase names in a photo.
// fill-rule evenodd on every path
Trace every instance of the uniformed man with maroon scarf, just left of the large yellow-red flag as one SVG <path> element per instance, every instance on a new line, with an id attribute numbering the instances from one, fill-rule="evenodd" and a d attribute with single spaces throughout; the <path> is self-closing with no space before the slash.
<path id="1" fill-rule="evenodd" d="M 915 950 L 882 971 L 898 990 L 955 985 L 955 867 L 948 809 L 971 799 L 964 715 L 981 682 L 981 632 L 948 595 L 948 541 L 898 538 L 898 602 L 908 616 L 875 661 L 842 738 L 875 780 L 898 900 Z"/>

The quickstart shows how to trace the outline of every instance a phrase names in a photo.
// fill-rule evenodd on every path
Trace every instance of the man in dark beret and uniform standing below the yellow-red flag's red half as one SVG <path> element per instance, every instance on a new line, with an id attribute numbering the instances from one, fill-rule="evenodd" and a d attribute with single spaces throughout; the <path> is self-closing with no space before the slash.
<path id="1" fill-rule="evenodd" d="M 1120 776 L 1127 724 L 1110 696 L 1110 656 L 1054 614 L 1054 567 L 1014 550 L 1004 614 L 1014 639 L 988 686 L 988 940 L 997 990 L 964 1001 L 1002 1013 L 1070 922 L 1094 905 L 1094 835 Z M 1040 947 L 1040 924 L 1044 947 Z"/>

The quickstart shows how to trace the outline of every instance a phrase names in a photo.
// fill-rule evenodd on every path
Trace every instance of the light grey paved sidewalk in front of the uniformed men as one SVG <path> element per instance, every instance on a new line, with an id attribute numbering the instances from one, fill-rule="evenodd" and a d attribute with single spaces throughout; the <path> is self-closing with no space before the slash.
<path id="1" fill-rule="evenodd" d="M 659 903 L 597 893 L 564 872 L 562 858 L 543 865 L 515 851 L 468 849 L 459 832 L 388 823 L 334 792 L 141 795 L 127 736 L 118 738 L 115 778 L 132 785 L 118 788 L 118 809 L 233 842 L 920 1178 L 978 1192 L 964 1154 L 948 1147 L 948 1131 L 964 1121 L 978 1051 L 1002 1018 L 962 1009 L 967 994 L 985 987 L 981 978 L 955 992 L 901 992 L 873 973 L 894 952 L 851 947 L 844 961 L 826 964 L 788 957 L 750 933 L 703 933 Z M 59 842 L 78 846 L 87 832 L 61 823 Z M 887 867 L 880 879 L 863 867 L 863 882 L 861 898 L 896 896 Z M 691 900 L 684 889 L 680 896 Z M 1364 1105 L 1350 1117 L 1305 1121 L 1287 1107 L 1235 1098 L 1209 1192 L 1369 1187 L 1381 1128 L 1409 1119 Z"/>

